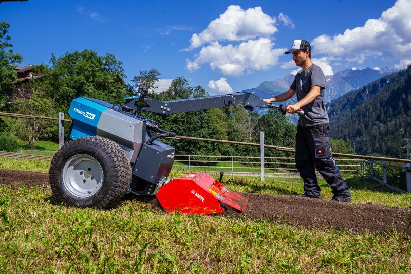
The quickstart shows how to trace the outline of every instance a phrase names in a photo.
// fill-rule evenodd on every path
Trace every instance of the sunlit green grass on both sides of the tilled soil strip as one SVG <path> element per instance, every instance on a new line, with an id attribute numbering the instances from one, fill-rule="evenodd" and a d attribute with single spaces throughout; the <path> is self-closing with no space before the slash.
<path id="1" fill-rule="evenodd" d="M 0 169 L 24 160 L 0 158 Z M 38 161 L 37 171 L 49 163 Z M 31 167 L 30 167 L 31 168 Z M 170 177 L 183 175 L 173 170 Z M 215 176 L 217 177 L 217 176 Z M 290 195 L 301 179 L 225 176 L 238 192 Z M 353 203 L 407 208 L 411 195 L 368 179 L 347 180 Z M 322 196 L 331 198 L 324 180 Z M 112 210 L 66 207 L 42 188 L 0 187 L 0 271 L 5 272 L 410 272 L 411 243 L 396 231 L 304 229 L 221 215 L 186 216 L 153 210 L 143 198 Z"/>

